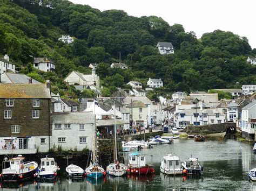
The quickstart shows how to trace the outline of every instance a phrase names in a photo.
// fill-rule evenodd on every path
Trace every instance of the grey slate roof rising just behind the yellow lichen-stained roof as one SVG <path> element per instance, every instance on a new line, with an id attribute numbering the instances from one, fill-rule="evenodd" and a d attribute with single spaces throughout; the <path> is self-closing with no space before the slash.
<path id="1" fill-rule="evenodd" d="M 4 77 L 6 76 L 9 81 L 4 81 Z M 1 75 L 2 83 L 29 83 L 30 77 L 25 74 L 16 74 L 16 73 L 3 73 Z M 32 83 L 41 83 L 34 79 L 32 79 Z"/>

